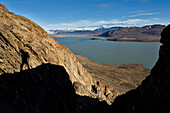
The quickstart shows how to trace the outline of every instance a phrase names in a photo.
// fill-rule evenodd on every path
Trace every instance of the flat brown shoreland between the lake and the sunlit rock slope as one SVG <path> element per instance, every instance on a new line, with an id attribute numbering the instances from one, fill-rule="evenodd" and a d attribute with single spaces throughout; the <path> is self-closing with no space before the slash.
<path id="1" fill-rule="evenodd" d="M 81 55 L 76 56 L 96 79 L 113 86 L 121 94 L 136 88 L 150 73 L 150 70 L 143 68 L 141 64 L 108 65 L 91 61 Z"/>

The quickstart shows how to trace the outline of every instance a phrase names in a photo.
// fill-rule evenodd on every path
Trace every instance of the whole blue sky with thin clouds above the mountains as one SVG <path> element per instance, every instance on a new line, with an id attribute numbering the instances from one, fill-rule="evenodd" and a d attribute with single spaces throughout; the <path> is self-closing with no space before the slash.
<path id="1" fill-rule="evenodd" d="M 170 0 L 0 0 L 45 30 L 170 23 Z"/>

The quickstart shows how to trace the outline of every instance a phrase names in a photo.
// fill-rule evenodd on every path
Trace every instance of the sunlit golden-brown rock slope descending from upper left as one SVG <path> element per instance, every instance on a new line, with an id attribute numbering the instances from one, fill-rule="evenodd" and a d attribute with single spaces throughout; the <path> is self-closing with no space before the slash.
<path id="1" fill-rule="evenodd" d="M 0 4 L 0 75 L 20 72 L 50 63 L 62 65 L 68 72 L 76 93 L 98 97 L 111 103 L 118 95 L 109 87 L 97 83 L 64 45 L 50 37 L 31 20 L 9 12 Z M 106 96 L 107 94 L 107 96 Z"/>

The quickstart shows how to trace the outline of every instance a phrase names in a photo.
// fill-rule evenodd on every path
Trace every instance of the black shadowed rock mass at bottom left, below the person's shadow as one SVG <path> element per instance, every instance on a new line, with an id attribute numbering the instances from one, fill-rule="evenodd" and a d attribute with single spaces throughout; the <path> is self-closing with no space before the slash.
<path id="1" fill-rule="evenodd" d="M 64 67 L 43 64 L 0 76 L 0 113 L 75 113 L 75 91 Z"/>

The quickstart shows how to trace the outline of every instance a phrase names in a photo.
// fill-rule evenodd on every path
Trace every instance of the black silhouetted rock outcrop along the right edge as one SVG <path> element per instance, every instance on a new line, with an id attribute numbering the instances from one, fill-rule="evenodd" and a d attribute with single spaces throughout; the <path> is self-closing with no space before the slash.
<path id="1" fill-rule="evenodd" d="M 135 90 L 115 99 L 114 113 L 170 112 L 170 25 L 161 33 L 159 59 L 151 74 Z"/>

